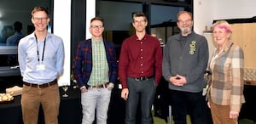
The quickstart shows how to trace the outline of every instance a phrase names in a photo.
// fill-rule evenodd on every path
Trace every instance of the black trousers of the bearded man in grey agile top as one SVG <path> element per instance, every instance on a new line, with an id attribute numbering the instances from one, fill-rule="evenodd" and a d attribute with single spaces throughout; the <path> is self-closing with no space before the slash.
<path id="1" fill-rule="evenodd" d="M 206 123 L 206 101 L 201 92 L 189 93 L 170 90 L 169 95 L 175 124 L 187 124 L 187 115 L 190 116 L 192 124 Z"/>

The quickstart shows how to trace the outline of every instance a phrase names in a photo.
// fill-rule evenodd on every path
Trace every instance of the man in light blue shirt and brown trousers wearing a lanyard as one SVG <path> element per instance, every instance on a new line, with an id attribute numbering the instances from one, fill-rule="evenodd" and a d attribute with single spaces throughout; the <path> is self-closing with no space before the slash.
<path id="1" fill-rule="evenodd" d="M 18 46 L 20 73 L 23 77 L 21 109 L 24 124 L 38 123 L 38 109 L 43 106 L 45 123 L 58 124 L 60 106 L 57 79 L 63 72 L 64 45 L 61 37 L 47 31 L 49 12 L 32 10 L 35 31 Z"/>

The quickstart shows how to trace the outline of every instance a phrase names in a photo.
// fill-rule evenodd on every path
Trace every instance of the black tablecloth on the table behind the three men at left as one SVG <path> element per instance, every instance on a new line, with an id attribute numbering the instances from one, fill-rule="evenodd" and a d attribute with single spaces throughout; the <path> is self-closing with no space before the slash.
<path id="1" fill-rule="evenodd" d="M 60 87 L 60 95 L 63 90 Z M 59 112 L 59 124 L 81 124 L 82 107 L 80 91 L 77 88 L 69 87 L 68 98 L 62 98 Z M 125 123 L 125 100 L 121 99 L 120 89 L 114 88 L 108 110 L 108 124 Z M 0 104 L 0 124 L 23 124 L 20 106 L 20 96 L 10 103 Z M 44 124 L 44 112 L 39 110 L 38 124 Z"/>

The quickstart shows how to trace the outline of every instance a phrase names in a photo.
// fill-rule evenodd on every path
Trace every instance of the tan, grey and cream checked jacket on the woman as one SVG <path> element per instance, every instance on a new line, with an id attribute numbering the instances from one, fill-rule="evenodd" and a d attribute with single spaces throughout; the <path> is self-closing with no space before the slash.
<path id="1" fill-rule="evenodd" d="M 241 48 L 233 42 L 218 54 L 212 56 L 210 69 L 212 82 L 208 98 L 219 105 L 230 105 L 230 110 L 240 111 L 245 102 L 243 96 L 244 55 Z M 217 55 L 218 54 L 218 55 Z"/>

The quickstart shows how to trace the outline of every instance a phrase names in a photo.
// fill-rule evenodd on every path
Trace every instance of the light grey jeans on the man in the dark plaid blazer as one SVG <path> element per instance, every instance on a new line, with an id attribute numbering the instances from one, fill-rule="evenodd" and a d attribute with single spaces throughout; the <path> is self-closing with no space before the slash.
<path id="1" fill-rule="evenodd" d="M 111 90 L 108 90 L 106 87 L 89 87 L 88 92 L 81 93 L 81 104 L 83 108 L 82 124 L 92 124 L 95 120 L 95 111 L 96 123 L 107 124 L 110 96 Z"/>

